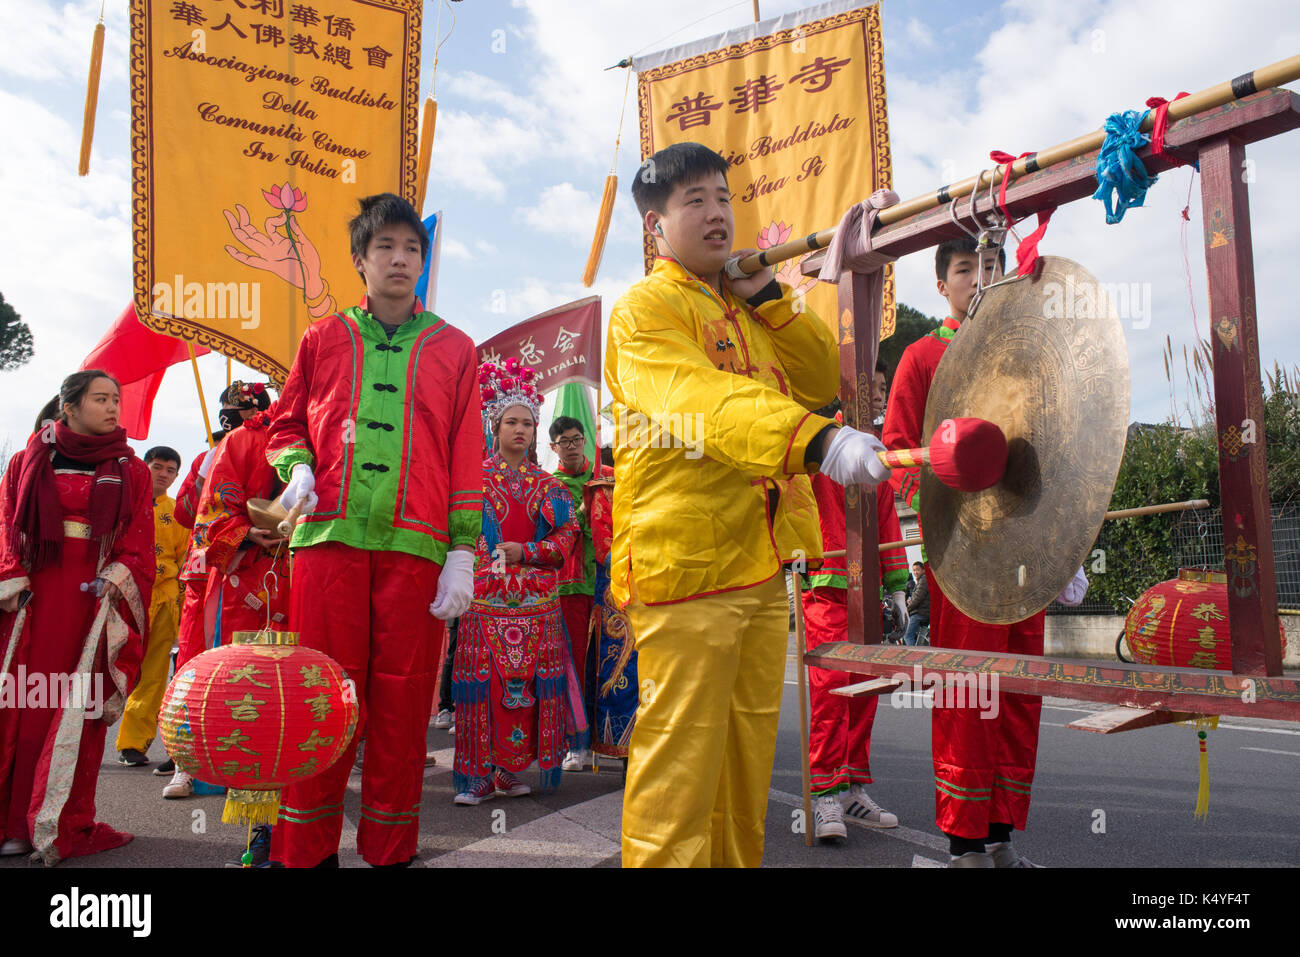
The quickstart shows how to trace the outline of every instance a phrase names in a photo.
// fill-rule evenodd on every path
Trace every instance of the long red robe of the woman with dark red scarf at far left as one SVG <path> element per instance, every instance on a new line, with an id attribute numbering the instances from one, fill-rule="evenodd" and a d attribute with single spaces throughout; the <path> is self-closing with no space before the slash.
<path id="1" fill-rule="evenodd" d="M 0 698 L 0 828 L 5 839 L 30 840 L 51 865 L 131 840 L 95 822 L 104 736 L 135 684 L 155 576 L 152 478 L 126 446 L 126 432 L 117 432 L 121 477 L 56 456 L 62 443 L 38 436 L 10 459 L 0 486 L 0 598 L 31 592 L 25 607 L 0 612 L 0 690 L 21 697 Z M 17 524 L 20 476 L 32 455 L 52 459 L 47 488 L 56 501 L 43 505 L 42 518 L 62 524 L 57 558 L 36 566 L 23 557 Z M 121 489 L 129 519 L 98 540 L 91 502 L 105 484 Z M 82 589 L 95 579 L 113 584 L 121 601 Z M 73 690 L 60 676 L 81 687 Z"/>

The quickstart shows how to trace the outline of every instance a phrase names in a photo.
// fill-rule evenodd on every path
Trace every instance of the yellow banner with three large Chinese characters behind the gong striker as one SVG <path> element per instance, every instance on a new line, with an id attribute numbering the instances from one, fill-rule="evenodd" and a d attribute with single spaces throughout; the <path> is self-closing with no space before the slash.
<path id="1" fill-rule="evenodd" d="M 766 250 L 838 224 L 854 203 L 890 186 L 880 5 L 827 3 L 725 34 L 633 57 L 641 156 L 673 143 L 716 150 L 736 216 L 734 248 Z M 646 237 L 646 269 L 654 246 Z M 776 278 L 836 321 L 831 283 L 783 263 Z M 893 334 L 893 268 L 880 337 Z"/>

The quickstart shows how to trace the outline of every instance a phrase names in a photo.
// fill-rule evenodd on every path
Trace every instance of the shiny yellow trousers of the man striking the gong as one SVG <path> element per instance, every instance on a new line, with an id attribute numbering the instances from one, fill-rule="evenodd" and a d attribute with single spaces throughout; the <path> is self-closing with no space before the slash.
<path id="1" fill-rule="evenodd" d="M 753 588 L 627 609 L 641 705 L 623 797 L 624 867 L 757 867 L 789 605 Z"/>

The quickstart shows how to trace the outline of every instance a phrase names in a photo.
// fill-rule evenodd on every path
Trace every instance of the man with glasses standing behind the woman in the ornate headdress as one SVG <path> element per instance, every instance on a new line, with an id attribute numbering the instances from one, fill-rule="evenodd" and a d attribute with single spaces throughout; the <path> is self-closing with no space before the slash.
<path id="1" fill-rule="evenodd" d="M 582 486 L 592 478 L 614 478 L 614 469 L 599 462 L 592 463 L 586 458 L 586 430 L 582 423 L 572 416 L 555 416 L 551 423 L 551 451 L 559 459 L 560 465 L 555 469 L 555 477 L 564 482 L 564 486 L 573 497 L 575 508 L 578 510 L 578 524 L 582 527 L 582 537 L 576 542 L 575 550 L 564 562 L 559 575 L 560 614 L 564 618 L 564 629 L 568 632 L 569 650 L 573 654 L 573 671 L 582 690 L 582 707 L 590 724 L 594 714 L 595 681 L 594 662 L 588 668 L 588 623 L 592 618 L 592 596 L 595 593 L 595 547 L 592 545 L 592 523 L 581 510 Z M 590 729 L 576 735 L 569 742 L 569 752 L 564 757 L 562 767 L 566 771 L 581 771 L 592 763 Z"/>

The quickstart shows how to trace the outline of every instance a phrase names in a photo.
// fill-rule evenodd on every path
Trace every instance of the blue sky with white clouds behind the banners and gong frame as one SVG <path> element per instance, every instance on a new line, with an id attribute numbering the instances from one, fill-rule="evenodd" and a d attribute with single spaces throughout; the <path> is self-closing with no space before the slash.
<path id="1" fill-rule="evenodd" d="M 762 0 L 764 17 L 807 4 Z M 108 43 L 91 174 L 75 172 L 91 31 L 99 0 L 0 3 L 0 293 L 29 322 L 36 355 L 0 373 L 0 442 L 21 445 L 53 394 L 130 300 L 127 4 L 108 0 Z M 445 211 L 438 312 L 476 341 L 586 294 L 580 278 L 608 172 L 629 53 L 741 26 L 750 0 L 464 0 L 438 65 L 438 129 L 426 209 Z M 979 10 L 972 13 L 972 10 Z M 1300 52 L 1300 21 L 1284 0 L 884 0 L 885 75 L 894 186 L 906 199 L 1019 153 L 1096 129 L 1148 96 L 1196 91 Z M 436 46 L 425 4 L 422 88 Z M 445 12 L 443 34 L 451 23 Z M 1295 85 L 1292 85 L 1295 86 Z M 1294 289 L 1300 133 L 1249 147 L 1251 215 L 1261 358 L 1300 363 Z M 606 313 L 642 274 L 627 187 L 638 164 L 634 95 L 623 127 L 620 195 L 601 277 Z M 1188 256 L 1179 211 L 1191 187 Z M 1149 316 L 1127 330 L 1132 419 L 1170 416 L 1161 363 L 1166 335 L 1182 355 L 1206 329 L 1199 242 L 1200 182 L 1160 178 L 1147 205 L 1108 226 L 1100 203 L 1061 209 L 1043 251 L 1098 278 L 1138 283 Z M 826 224 L 832 225 L 832 224 Z M 927 254 L 897 267 L 898 296 L 942 315 Z M 211 395 L 224 360 L 200 361 Z M 238 368 L 237 368 L 238 374 Z M 1179 374 L 1178 404 L 1186 403 Z M 212 403 L 214 408 L 214 402 Z M 1186 413 L 1184 413 L 1186 415 Z M 148 443 L 188 459 L 202 443 L 194 380 L 174 367 Z M 144 443 L 138 443 L 143 450 Z"/>

